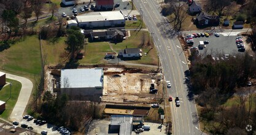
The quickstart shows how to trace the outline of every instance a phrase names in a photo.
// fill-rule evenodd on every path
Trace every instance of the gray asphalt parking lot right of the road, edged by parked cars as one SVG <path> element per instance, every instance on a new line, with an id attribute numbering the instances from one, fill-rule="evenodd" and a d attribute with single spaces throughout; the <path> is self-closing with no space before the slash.
<path id="1" fill-rule="evenodd" d="M 213 57 L 222 57 L 220 55 L 233 55 L 235 53 L 243 53 L 239 52 L 238 47 L 236 47 L 236 37 L 238 36 L 228 36 L 224 33 L 219 34 L 219 37 L 216 37 L 214 35 L 211 35 L 209 37 L 194 37 L 193 47 L 198 47 L 200 41 L 209 41 L 209 44 L 206 44 L 206 47 L 199 49 L 200 55 L 212 55 Z M 246 44 L 244 44 L 244 47 L 247 47 Z"/>

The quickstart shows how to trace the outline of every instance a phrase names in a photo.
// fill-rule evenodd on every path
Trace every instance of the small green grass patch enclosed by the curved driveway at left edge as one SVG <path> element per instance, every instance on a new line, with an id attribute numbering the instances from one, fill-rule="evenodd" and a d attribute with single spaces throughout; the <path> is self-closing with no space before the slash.
<path id="1" fill-rule="evenodd" d="M 8 120 L 20 94 L 21 83 L 16 80 L 6 79 L 7 82 L 12 82 L 12 96 L 10 98 L 10 85 L 0 88 L 0 100 L 6 102 L 6 110 L 0 114 L 1 118 Z M 10 99 L 9 99 L 10 98 Z"/>

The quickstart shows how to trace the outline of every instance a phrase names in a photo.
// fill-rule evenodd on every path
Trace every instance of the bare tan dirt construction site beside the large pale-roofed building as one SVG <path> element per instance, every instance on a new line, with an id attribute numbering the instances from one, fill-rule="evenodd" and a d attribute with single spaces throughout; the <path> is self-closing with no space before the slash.
<path id="1" fill-rule="evenodd" d="M 150 84 L 154 83 L 157 94 L 150 94 Z M 149 103 L 162 98 L 161 75 L 152 71 L 104 69 L 103 102 Z"/>

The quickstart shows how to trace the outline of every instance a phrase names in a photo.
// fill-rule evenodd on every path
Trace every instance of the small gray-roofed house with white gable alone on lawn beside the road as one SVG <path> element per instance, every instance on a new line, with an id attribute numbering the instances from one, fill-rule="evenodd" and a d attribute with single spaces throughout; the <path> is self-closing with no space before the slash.
<path id="1" fill-rule="evenodd" d="M 126 47 L 124 50 L 121 50 L 118 55 L 122 56 L 123 58 L 140 58 L 142 56 L 142 50 L 141 48 Z"/>

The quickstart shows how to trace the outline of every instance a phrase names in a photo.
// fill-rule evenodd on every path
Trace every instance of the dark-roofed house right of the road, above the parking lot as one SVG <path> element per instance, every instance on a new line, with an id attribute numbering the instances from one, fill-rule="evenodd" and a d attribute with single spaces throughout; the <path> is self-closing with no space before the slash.
<path id="1" fill-rule="evenodd" d="M 198 23 L 198 25 L 201 25 L 201 26 L 204 26 L 204 25 L 218 26 L 220 23 L 220 17 L 217 15 L 208 15 L 205 12 L 201 12 L 196 17 L 196 22 Z"/>

